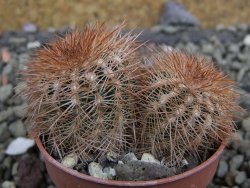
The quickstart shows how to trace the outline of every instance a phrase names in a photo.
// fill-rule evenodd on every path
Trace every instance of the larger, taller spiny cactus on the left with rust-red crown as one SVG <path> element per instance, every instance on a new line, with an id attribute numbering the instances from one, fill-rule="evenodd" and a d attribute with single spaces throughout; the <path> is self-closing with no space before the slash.
<path id="1" fill-rule="evenodd" d="M 39 49 L 22 73 L 31 132 L 61 159 L 81 161 L 131 148 L 137 36 L 88 26 Z"/>

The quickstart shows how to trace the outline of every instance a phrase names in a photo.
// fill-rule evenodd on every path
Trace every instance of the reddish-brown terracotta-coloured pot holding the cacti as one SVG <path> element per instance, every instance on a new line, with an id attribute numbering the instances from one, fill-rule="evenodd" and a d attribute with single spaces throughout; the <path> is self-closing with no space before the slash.
<path id="1" fill-rule="evenodd" d="M 44 156 L 47 171 L 57 188 L 205 188 L 213 179 L 219 158 L 225 148 L 225 144 L 221 144 L 208 160 L 182 174 L 152 181 L 115 181 L 91 177 L 66 168 L 47 153 L 40 139 L 36 140 L 36 144 Z"/>

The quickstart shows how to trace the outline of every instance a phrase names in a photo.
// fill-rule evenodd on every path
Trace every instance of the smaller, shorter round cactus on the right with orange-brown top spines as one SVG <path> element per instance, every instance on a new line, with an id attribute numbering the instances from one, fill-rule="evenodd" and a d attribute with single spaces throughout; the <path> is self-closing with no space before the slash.
<path id="1" fill-rule="evenodd" d="M 234 132 L 234 82 L 212 63 L 177 50 L 149 61 L 139 92 L 143 152 L 180 165 L 185 154 L 202 155 Z"/>

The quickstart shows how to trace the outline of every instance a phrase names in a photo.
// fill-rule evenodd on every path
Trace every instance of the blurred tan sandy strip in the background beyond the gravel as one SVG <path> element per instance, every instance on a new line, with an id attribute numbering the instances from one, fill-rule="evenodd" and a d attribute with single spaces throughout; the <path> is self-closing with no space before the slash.
<path id="1" fill-rule="evenodd" d="M 250 0 L 177 0 L 196 16 L 204 27 L 218 24 L 250 23 Z M 149 28 L 159 23 L 165 0 L 78 0 L 0 1 L 0 31 L 20 29 L 31 22 L 40 28 L 61 28 L 88 22 L 127 20 L 129 28 Z"/>

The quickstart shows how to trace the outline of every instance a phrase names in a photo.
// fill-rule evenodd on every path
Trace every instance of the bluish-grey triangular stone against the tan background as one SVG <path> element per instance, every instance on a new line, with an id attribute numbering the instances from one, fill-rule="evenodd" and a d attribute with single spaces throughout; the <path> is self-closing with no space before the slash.
<path id="1" fill-rule="evenodd" d="M 189 13 L 183 5 L 169 0 L 166 1 L 160 24 L 199 26 L 200 22 L 196 17 Z"/>

